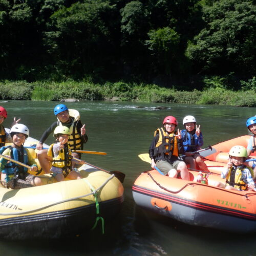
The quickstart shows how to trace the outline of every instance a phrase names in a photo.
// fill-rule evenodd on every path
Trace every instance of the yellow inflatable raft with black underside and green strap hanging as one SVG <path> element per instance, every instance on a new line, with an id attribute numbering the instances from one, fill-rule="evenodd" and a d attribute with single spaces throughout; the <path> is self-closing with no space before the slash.
<path id="1" fill-rule="evenodd" d="M 113 217 L 123 202 L 123 186 L 111 172 L 84 164 L 80 180 L 56 182 L 39 175 L 44 185 L 22 189 L 0 186 L 0 238 L 75 236 Z M 115 172 L 113 172 L 115 173 Z"/>

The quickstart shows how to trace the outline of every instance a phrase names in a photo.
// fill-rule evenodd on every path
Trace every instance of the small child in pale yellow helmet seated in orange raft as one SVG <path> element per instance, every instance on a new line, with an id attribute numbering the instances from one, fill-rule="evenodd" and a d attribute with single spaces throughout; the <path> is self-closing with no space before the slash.
<path id="1" fill-rule="evenodd" d="M 221 174 L 223 179 L 226 178 L 226 184 L 218 182 L 216 186 L 230 190 L 246 190 L 247 186 L 254 189 L 252 169 L 243 164 L 247 158 L 246 148 L 239 145 L 231 147 L 229 158 L 227 169 Z"/>

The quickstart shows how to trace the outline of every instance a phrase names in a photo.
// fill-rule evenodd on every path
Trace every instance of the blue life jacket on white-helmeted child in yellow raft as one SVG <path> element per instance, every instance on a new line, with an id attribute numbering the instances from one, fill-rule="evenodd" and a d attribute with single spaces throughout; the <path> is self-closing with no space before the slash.
<path id="1" fill-rule="evenodd" d="M 2 154 L 6 150 L 6 148 L 10 148 L 12 159 L 28 164 L 28 152 L 26 151 L 24 146 L 20 146 L 20 150 L 17 150 L 17 148 L 12 146 L 3 146 L 0 149 L 0 154 Z M 2 170 L 2 173 L 6 174 L 7 182 L 10 180 L 9 175 L 18 174 L 18 173 L 27 173 L 27 172 L 28 172 L 28 168 L 18 165 L 11 161 L 5 164 L 5 168 Z"/>

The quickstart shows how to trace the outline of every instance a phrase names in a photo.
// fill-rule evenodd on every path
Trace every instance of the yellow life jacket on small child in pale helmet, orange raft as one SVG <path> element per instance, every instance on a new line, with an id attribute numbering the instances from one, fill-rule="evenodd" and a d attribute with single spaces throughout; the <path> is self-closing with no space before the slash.
<path id="1" fill-rule="evenodd" d="M 253 170 L 250 167 L 247 167 L 245 165 L 239 166 L 236 169 L 234 169 L 234 166 L 232 166 L 227 174 L 226 177 L 226 185 L 233 186 L 235 188 L 238 188 L 240 190 L 246 190 L 247 186 L 246 183 L 242 180 L 243 176 L 243 170 L 245 168 L 248 168 L 250 170 L 250 173 L 253 177 Z"/>

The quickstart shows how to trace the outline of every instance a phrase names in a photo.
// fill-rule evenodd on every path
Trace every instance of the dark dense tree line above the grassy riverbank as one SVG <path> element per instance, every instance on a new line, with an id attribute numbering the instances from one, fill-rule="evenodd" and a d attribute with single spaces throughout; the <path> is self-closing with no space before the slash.
<path id="1" fill-rule="evenodd" d="M 255 13 L 249 0 L 0 0 L 0 78 L 236 87 L 255 75 Z"/>

